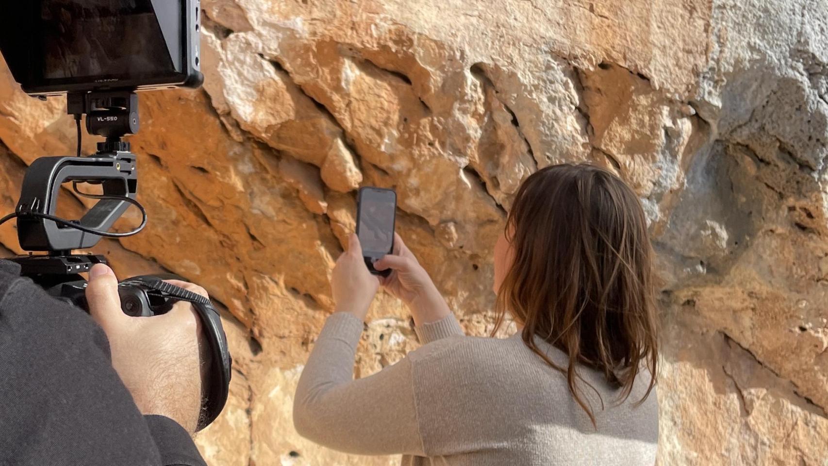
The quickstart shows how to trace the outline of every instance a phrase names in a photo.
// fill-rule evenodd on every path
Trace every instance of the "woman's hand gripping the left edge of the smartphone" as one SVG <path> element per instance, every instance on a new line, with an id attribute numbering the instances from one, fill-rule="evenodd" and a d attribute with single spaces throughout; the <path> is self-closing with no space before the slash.
<path id="1" fill-rule="evenodd" d="M 330 288 L 336 312 L 349 312 L 359 319 L 365 319 L 368 306 L 379 289 L 379 280 L 365 266 L 359 237 L 354 233 L 348 237 L 348 250 L 336 261 L 330 277 Z"/>

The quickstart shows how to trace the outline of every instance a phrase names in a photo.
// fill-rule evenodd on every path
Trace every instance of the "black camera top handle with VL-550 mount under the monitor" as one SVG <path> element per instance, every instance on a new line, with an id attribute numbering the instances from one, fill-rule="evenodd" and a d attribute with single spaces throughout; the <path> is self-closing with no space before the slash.
<path id="1" fill-rule="evenodd" d="M 86 114 L 87 131 L 106 137 L 106 141 L 99 142 L 98 151 L 91 156 L 41 157 L 32 162 L 15 211 L 22 249 L 55 256 L 93 247 L 129 204 L 137 204 L 136 157 L 129 151 L 129 142 L 121 140 L 140 127 L 137 94 L 131 90 L 70 93 L 66 103 L 67 113 L 75 115 L 78 124 Z M 79 195 L 99 199 L 80 220 L 55 218 L 60 185 L 68 181 L 75 184 Z M 102 185 L 103 195 L 84 194 L 77 183 Z"/>

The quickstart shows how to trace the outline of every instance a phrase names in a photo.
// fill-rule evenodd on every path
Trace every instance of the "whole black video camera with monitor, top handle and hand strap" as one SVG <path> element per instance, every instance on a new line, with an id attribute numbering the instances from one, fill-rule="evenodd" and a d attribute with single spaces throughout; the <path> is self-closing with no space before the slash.
<path id="1" fill-rule="evenodd" d="M 102 237 L 138 233 L 147 214 L 136 200 L 137 161 L 123 137 L 140 127 L 136 91 L 198 88 L 200 73 L 200 0 L 0 0 L 0 53 L 23 91 L 45 100 L 66 94 L 67 112 L 75 116 L 75 156 L 41 157 L 26 170 L 13 214 L 22 249 L 46 254 L 16 257 L 22 274 L 60 300 L 87 309 L 86 281 L 79 275 L 99 255 L 72 254 L 94 247 Z M 98 151 L 81 156 L 80 121 L 101 136 Z M 55 216 L 64 183 L 78 195 L 98 199 L 78 220 Z M 101 185 L 103 194 L 79 190 L 79 183 Z M 142 223 L 127 233 L 108 230 L 130 205 Z M 163 314 L 177 301 L 192 303 L 200 315 L 211 349 L 211 375 L 199 429 L 224 408 L 232 359 L 219 313 L 205 297 L 164 281 L 177 276 L 140 276 L 119 286 L 123 312 L 133 316 Z M 88 310 L 88 309 L 87 309 Z"/>

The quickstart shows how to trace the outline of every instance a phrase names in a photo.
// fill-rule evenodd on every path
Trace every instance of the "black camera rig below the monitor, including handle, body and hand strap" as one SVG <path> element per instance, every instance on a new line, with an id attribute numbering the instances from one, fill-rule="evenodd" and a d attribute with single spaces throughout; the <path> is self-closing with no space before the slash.
<path id="1" fill-rule="evenodd" d="M 79 274 L 107 261 L 102 255 L 73 254 L 72 251 L 94 247 L 103 237 L 136 234 L 147 224 L 147 213 L 136 200 L 136 156 L 130 151 L 129 142 L 123 141 L 123 137 L 136 133 L 140 127 L 138 97 L 130 90 L 70 93 L 67 111 L 75 116 L 78 127 L 76 156 L 41 157 L 32 162 L 26 170 L 15 212 L 0 219 L 0 224 L 17 218 L 17 238 L 29 255 L 10 260 L 21 266 L 23 276 L 30 277 L 55 298 L 88 310 L 87 282 Z M 105 137 L 103 142 L 98 142 L 98 151 L 90 156 L 80 154 L 80 121 L 84 114 L 87 132 Z M 68 182 L 78 195 L 98 199 L 79 220 L 55 216 L 61 185 Z M 84 193 L 78 189 L 78 183 L 101 185 L 103 194 Z M 109 232 L 130 204 L 141 211 L 141 224 L 130 232 Z M 164 314 L 177 301 L 190 302 L 195 308 L 209 343 L 211 359 L 199 421 L 202 429 L 219 416 L 229 395 L 232 358 L 227 337 L 219 313 L 208 298 L 171 285 L 165 279 L 184 280 L 167 274 L 121 281 L 118 284 L 121 307 L 125 314 L 136 317 Z"/>

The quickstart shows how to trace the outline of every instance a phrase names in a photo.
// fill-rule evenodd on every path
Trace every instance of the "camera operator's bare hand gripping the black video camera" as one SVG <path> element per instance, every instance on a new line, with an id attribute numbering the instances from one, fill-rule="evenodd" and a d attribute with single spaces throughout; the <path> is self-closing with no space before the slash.
<path id="1" fill-rule="evenodd" d="M 207 296 L 200 286 L 171 281 Z M 161 415 L 195 432 L 201 411 L 201 322 L 190 303 L 164 315 L 131 317 L 121 310 L 118 279 L 103 264 L 89 271 L 89 314 L 103 328 L 112 365 L 144 415 Z"/>

